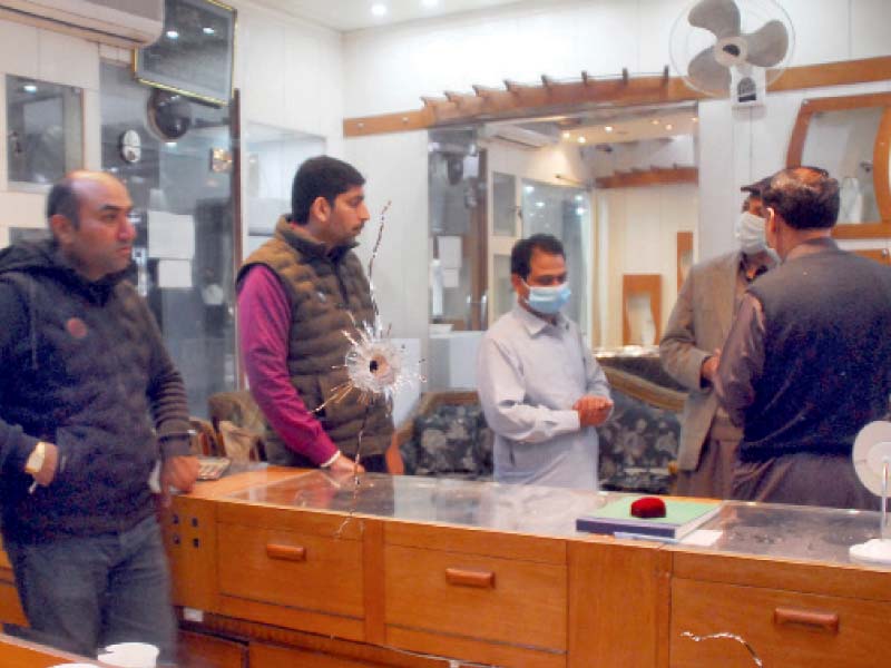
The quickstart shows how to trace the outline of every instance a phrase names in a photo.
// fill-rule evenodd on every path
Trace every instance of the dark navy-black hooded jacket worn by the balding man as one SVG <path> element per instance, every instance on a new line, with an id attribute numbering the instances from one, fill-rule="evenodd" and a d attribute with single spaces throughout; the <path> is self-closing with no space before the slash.
<path id="1" fill-rule="evenodd" d="M 155 462 L 187 454 L 187 430 L 183 380 L 123 274 L 89 282 L 51 242 L 0 252 L 4 540 L 134 527 L 154 509 Z M 59 466 L 29 493 L 23 470 L 38 440 L 58 446 Z"/>

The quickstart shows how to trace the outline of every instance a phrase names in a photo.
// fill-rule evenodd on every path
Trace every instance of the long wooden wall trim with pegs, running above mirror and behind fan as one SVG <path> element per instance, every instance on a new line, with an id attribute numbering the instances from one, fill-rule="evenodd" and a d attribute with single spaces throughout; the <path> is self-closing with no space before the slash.
<path id="1" fill-rule="evenodd" d="M 768 90 L 797 90 L 885 79 L 891 79 L 891 56 L 791 67 L 771 84 Z M 472 88 L 473 92 L 466 94 L 447 91 L 443 98 L 422 97 L 424 106 L 420 110 L 345 118 L 344 137 L 559 114 L 578 110 L 586 105 L 628 107 L 707 97 L 688 88 L 681 77 L 669 77 L 667 68 L 656 76 L 630 76 L 625 68 L 620 76 L 609 79 L 596 79 L 582 71 L 580 80 L 571 82 L 557 81 L 542 75 L 540 85 L 506 80 L 505 89 L 480 85 L 473 85 Z"/>

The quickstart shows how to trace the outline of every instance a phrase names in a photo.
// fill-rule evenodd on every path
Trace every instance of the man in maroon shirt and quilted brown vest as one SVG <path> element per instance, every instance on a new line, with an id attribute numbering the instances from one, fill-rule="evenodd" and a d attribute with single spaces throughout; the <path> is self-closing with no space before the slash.
<path id="1" fill-rule="evenodd" d="M 306 160 L 294 177 L 292 214 L 238 275 L 241 352 L 271 426 L 272 463 L 353 471 L 361 446 L 360 471 L 386 470 L 393 428 L 385 406 L 353 395 L 325 403 L 346 381 L 343 332 L 373 317 L 351 250 L 369 219 L 363 185 L 346 163 Z"/>

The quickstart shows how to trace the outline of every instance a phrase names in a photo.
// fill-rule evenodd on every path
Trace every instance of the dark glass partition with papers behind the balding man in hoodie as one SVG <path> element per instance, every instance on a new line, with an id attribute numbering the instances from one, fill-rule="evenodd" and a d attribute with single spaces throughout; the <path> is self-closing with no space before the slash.
<path id="1" fill-rule="evenodd" d="M 129 68 L 101 67 L 102 168 L 133 197 L 133 278 L 199 416 L 237 383 L 229 110 L 158 98 Z"/>

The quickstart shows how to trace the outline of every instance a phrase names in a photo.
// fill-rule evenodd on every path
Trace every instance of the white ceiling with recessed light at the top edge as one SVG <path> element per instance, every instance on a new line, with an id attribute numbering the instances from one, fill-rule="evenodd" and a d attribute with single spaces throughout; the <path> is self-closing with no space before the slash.
<path id="1" fill-rule="evenodd" d="M 446 14 L 474 11 L 518 0 L 254 0 L 257 4 L 346 32 L 390 26 L 403 21 L 429 19 Z M 374 16 L 375 4 L 386 7 L 386 13 Z"/>

